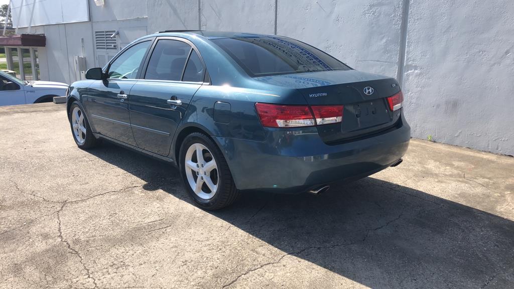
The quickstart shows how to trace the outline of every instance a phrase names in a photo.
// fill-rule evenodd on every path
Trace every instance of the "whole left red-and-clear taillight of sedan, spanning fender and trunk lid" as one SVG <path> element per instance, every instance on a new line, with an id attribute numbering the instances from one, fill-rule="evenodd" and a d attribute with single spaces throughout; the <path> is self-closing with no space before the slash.
<path id="1" fill-rule="evenodd" d="M 262 125 L 268 128 L 311 127 L 316 124 L 341 122 L 343 118 L 342 105 L 309 107 L 307 105 L 255 103 L 255 109 Z"/>

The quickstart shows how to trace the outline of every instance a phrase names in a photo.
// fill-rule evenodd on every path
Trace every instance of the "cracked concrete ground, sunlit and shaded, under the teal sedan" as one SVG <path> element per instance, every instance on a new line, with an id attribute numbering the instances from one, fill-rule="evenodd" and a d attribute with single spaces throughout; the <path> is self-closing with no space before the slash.
<path id="1" fill-rule="evenodd" d="M 412 140 L 324 195 L 194 207 L 178 171 L 0 107 L 1 288 L 513 288 L 514 158 Z"/>

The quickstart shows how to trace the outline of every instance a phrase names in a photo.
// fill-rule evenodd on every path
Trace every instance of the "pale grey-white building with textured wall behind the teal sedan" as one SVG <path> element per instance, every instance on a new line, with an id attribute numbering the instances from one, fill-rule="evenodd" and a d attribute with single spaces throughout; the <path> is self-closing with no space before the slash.
<path id="1" fill-rule="evenodd" d="M 512 0 L 12 0 L 18 34 L 46 37 L 27 60 L 42 80 L 71 83 L 83 77 L 75 57 L 102 66 L 159 30 L 276 33 L 396 77 L 413 137 L 510 155 L 512 15 Z"/>

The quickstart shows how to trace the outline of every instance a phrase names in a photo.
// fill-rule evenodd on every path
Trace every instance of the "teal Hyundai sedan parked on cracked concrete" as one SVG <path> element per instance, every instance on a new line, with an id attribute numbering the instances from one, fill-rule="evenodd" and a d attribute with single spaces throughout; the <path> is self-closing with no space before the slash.
<path id="1" fill-rule="evenodd" d="M 401 162 L 398 82 L 277 35 L 163 31 L 71 84 L 81 149 L 104 139 L 179 168 L 196 205 L 241 191 L 321 193 Z"/>

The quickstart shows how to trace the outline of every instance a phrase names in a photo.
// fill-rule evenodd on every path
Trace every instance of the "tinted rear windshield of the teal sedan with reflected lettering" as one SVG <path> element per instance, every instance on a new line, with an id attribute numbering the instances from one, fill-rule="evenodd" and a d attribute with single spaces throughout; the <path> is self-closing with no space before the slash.
<path id="1" fill-rule="evenodd" d="M 251 77 L 350 69 L 327 53 L 289 38 L 222 38 L 212 41 Z"/>

